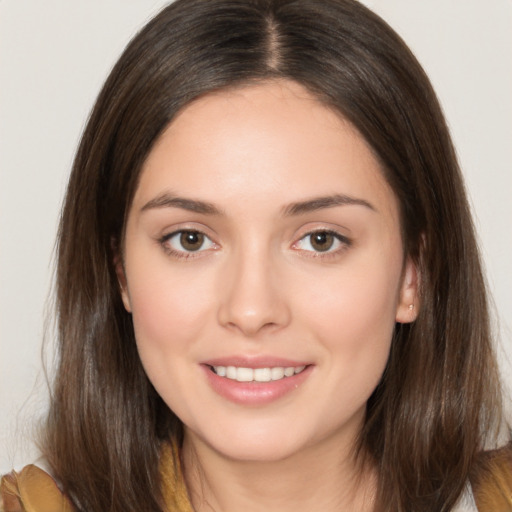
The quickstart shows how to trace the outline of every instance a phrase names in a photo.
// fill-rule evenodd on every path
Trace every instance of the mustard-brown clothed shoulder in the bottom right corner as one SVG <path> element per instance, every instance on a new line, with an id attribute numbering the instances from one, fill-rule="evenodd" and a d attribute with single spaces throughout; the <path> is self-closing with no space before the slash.
<path id="1" fill-rule="evenodd" d="M 471 487 L 479 512 L 512 512 L 512 443 L 479 456 Z"/>

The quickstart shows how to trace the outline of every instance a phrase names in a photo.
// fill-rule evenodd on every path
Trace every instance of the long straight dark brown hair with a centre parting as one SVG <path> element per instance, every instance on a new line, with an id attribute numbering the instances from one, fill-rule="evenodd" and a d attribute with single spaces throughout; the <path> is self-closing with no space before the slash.
<path id="1" fill-rule="evenodd" d="M 180 422 L 148 381 L 114 269 L 141 166 L 202 94 L 285 78 L 349 119 L 400 204 L 421 311 L 397 325 L 359 453 L 382 510 L 447 511 L 500 422 L 486 291 L 441 109 L 403 41 L 353 0 L 177 0 L 133 39 L 83 134 L 59 231 L 60 364 L 46 453 L 78 510 L 162 510 Z"/>

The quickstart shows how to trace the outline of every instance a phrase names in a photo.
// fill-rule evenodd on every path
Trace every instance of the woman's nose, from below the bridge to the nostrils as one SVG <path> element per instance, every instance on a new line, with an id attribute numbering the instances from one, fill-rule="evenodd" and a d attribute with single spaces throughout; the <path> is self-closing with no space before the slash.
<path id="1" fill-rule="evenodd" d="M 290 322 L 286 287 L 265 251 L 247 248 L 226 261 L 219 286 L 219 323 L 246 337 L 277 331 Z"/>

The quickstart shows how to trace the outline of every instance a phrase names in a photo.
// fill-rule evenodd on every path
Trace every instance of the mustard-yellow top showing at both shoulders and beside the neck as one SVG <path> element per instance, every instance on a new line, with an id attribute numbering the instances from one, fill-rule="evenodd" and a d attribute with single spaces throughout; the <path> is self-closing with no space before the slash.
<path id="1" fill-rule="evenodd" d="M 512 512 L 511 452 L 497 451 L 485 463 L 474 497 L 479 512 Z M 160 461 L 163 497 L 169 512 L 193 512 L 179 457 L 166 444 Z M 0 482 L 0 512 L 73 512 L 68 499 L 48 473 L 37 466 L 4 476 Z"/>

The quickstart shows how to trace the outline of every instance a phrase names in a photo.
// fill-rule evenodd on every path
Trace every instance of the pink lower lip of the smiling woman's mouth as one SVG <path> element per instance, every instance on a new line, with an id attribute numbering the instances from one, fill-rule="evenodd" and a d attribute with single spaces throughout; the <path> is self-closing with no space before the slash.
<path id="1" fill-rule="evenodd" d="M 265 405 L 279 400 L 297 389 L 309 377 L 312 369 L 310 365 L 291 377 L 269 382 L 238 382 L 219 377 L 207 365 L 202 367 L 210 386 L 217 394 L 241 405 Z"/>

